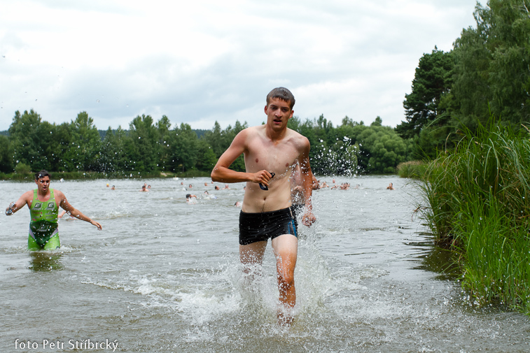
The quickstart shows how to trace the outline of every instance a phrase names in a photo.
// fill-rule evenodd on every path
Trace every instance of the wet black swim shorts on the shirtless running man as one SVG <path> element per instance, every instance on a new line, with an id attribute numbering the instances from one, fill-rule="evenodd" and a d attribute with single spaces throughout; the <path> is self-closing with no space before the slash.
<path id="1" fill-rule="evenodd" d="M 249 245 L 256 241 L 267 241 L 283 234 L 298 238 L 296 218 L 291 208 L 270 212 L 239 212 L 239 244 Z"/>

